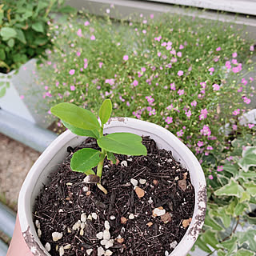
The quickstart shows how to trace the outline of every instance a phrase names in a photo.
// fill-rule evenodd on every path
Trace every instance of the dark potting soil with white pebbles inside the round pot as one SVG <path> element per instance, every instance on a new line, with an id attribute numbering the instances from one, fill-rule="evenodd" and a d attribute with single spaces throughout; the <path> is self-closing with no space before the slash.
<path id="1" fill-rule="evenodd" d="M 102 186 L 108 194 L 70 170 L 72 154 L 83 147 L 99 150 L 96 141 L 87 138 L 67 149 L 70 156 L 51 174 L 34 209 L 50 255 L 164 256 L 174 250 L 190 225 L 194 187 L 170 151 L 158 150 L 148 137 L 142 142 L 147 156 L 116 155 L 117 164 L 105 160 Z"/>

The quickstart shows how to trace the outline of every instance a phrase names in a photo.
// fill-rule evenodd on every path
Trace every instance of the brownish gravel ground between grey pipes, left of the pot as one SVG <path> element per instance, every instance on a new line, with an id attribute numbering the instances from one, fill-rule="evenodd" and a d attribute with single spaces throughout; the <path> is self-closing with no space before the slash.
<path id="1" fill-rule="evenodd" d="M 40 153 L 0 134 L 0 200 L 17 210 L 18 193 Z"/>

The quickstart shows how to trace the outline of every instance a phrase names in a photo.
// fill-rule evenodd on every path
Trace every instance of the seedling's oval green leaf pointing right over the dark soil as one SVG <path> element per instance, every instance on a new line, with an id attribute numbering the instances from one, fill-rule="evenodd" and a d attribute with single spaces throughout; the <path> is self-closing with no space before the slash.
<path id="1" fill-rule="evenodd" d="M 114 133 L 98 139 L 98 146 L 116 154 L 146 155 L 146 146 L 136 134 Z"/>

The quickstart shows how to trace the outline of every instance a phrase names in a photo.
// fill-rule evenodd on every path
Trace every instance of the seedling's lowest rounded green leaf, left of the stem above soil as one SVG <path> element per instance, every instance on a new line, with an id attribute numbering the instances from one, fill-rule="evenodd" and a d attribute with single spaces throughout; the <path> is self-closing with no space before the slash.
<path id="1" fill-rule="evenodd" d="M 85 148 L 75 152 L 70 161 L 72 170 L 86 173 L 86 171 L 98 165 L 101 152 L 98 150 Z"/>

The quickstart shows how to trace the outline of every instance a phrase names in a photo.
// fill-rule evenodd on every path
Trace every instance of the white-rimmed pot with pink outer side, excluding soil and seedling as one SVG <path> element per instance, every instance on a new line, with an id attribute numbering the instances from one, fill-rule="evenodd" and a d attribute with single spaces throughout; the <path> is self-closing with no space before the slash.
<path id="1" fill-rule="evenodd" d="M 111 118 L 104 128 L 104 132 L 107 134 L 131 132 L 138 135 L 149 135 L 150 138 L 157 142 L 159 148 L 171 150 L 175 160 L 181 162 L 182 166 L 189 170 L 195 190 L 194 214 L 185 236 L 170 254 L 171 256 L 185 256 L 198 238 L 206 214 L 206 180 L 197 158 L 174 134 L 150 122 L 143 122 L 133 118 Z M 78 146 L 84 140 L 84 137 L 79 137 L 67 130 L 48 146 L 32 166 L 19 194 L 17 227 L 15 228 L 16 232 L 14 231 L 14 237 L 7 256 L 50 255 L 39 241 L 34 228 L 32 216 L 34 200 L 38 196 L 40 189 L 42 189 L 42 184 L 48 182 L 47 176 L 57 170 L 58 164 L 62 163 L 63 159 L 66 158 L 68 154 L 67 147 Z M 23 242 L 18 241 L 18 239 L 22 238 Z M 19 248 L 15 250 L 17 245 Z M 23 247 L 26 252 L 25 249 L 22 249 Z"/>

